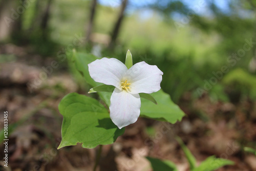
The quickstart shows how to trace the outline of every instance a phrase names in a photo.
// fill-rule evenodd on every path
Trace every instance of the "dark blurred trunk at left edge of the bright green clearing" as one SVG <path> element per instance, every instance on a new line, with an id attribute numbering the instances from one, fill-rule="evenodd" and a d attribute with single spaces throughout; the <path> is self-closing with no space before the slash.
<path id="1" fill-rule="evenodd" d="M 47 38 L 47 28 L 48 28 L 49 19 L 50 19 L 50 8 L 52 5 L 52 2 L 53 0 L 48 0 L 46 9 L 42 14 L 41 30 L 42 30 L 42 36 L 44 39 Z"/>

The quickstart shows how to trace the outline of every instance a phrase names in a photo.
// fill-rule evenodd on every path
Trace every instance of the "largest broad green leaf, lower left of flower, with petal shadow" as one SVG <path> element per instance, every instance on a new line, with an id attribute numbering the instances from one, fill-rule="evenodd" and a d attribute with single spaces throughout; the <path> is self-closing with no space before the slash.
<path id="1" fill-rule="evenodd" d="M 109 112 L 99 101 L 70 93 L 59 103 L 63 115 L 61 143 L 58 148 L 82 143 L 84 148 L 112 144 L 124 133 L 112 122 Z"/>

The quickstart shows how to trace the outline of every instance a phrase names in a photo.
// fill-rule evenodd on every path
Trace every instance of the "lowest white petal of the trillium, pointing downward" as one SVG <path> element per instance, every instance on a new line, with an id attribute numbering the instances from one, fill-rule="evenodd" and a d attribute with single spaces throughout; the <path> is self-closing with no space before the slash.
<path id="1" fill-rule="evenodd" d="M 115 88 L 110 98 L 110 118 L 121 129 L 137 121 L 140 116 L 140 95 Z"/>

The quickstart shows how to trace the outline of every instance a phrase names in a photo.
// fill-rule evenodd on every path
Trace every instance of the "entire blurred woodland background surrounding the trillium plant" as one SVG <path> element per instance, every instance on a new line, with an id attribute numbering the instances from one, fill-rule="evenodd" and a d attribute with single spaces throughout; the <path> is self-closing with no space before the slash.
<path id="1" fill-rule="evenodd" d="M 255 12 L 255 0 L 1 0 L 0 125 L 8 111 L 9 167 L 0 170 L 92 170 L 97 148 L 57 150 L 59 101 L 90 89 L 67 56 L 124 62 L 128 49 L 134 62 L 163 71 L 162 89 L 186 116 L 160 136 L 165 123 L 140 118 L 103 146 L 98 170 L 151 170 L 144 156 L 189 170 L 175 136 L 198 163 L 216 155 L 236 162 L 219 170 L 256 170 L 256 157 L 243 151 L 256 148 Z M 2 160 L 2 142 L 0 149 Z"/>

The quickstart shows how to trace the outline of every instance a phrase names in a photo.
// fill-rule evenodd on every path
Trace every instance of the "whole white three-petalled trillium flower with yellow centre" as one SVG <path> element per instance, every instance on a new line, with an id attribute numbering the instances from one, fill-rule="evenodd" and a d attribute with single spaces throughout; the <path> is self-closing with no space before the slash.
<path id="1" fill-rule="evenodd" d="M 118 59 L 104 57 L 88 66 L 96 82 L 115 86 L 110 98 L 110 118 L 119 129 L 137 121 L 141 106 L 139 93 L 150 94 L 161 89 L 163 72 L 144 61 L 127 69 Z"/>

